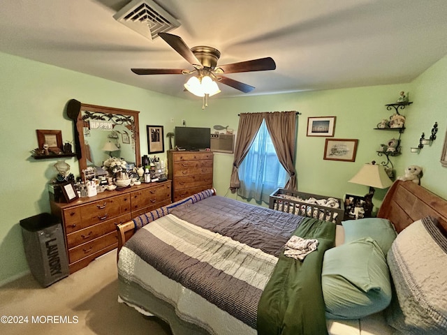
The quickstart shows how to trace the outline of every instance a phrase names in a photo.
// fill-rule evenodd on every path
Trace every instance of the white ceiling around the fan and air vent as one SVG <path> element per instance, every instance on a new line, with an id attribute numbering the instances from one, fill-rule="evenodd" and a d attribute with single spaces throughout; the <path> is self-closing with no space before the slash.
<path id="1" fill-rule="evenodd" d="M 276 70 L 227 76 L 213 98 L 409 82 L 447 54 L 446 0 L 154 0 L 170 31 L 221 52 L 219 64 L 272 57 Z M 0 51 L 182 98 L 183 75 L 131 68 L 191 65 L 112 15 L 129 0 L 1 0 Z"/>

